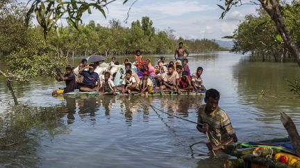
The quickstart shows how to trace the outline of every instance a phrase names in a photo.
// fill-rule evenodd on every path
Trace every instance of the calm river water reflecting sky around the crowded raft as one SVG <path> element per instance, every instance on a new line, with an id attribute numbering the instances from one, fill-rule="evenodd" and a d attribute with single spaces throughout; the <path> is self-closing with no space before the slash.
<path id="1" fill-rule="evenodd" d="M 153 64 L 160 56 L 151 56 Z M 119 62 L 123 58 L 117 57 Z M 79 59 L 71 60 L 76 64 Z M 172 60 L 169 55 L 167 60 Z M 280 112 L 300 129 L 300 98 L 290 80 L 300 78 L 296 63 L 249 62 L 243 55 L 219 52 L 191 55 L 190 69 L 204 68 L 206 88 L 221 93 L 219 106 L 231 118 L 240 142 L 287 137 Z M 0 78 L 0 167 L 219 167 L 190 122 L 153 111 L 156 108 L 197 121 L 199 95 L 156 97 L 51 97 L 63 86 L 50 78 L 13 84 L 15 105 Z M 258 100 L 258 93 L 266 95 Z M 189 148 L 194 142 L 202 144 Z"/>

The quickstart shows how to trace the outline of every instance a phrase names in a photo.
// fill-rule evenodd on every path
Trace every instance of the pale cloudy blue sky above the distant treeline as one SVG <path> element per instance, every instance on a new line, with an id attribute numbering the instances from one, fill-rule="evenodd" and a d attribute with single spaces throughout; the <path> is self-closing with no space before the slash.
<path id="1" fill-rule="evenodd" d="M 25 1 L 25 0 L 22 0 Z M 217 4 L 219 0 L 138 0 L 129 12 L 128 9 L 135 0 L 129 0 L 123 5 L 124 0 L 117 0 L 108 5 L 107 18 L 101 12 L 92 10 L 92 14 L 83 15 L 83 23 L 88 24 L 94 20 L 101 26 L 108 26 L 110 19 L 119 19 L 122 26 L 131 26 L 131 22 L 142 17 L 150 17 L 153 26 L 158 30 L 172 28 L 176 37 L 185 39 L 222 39 L 225 35 L 232 35 L 233 30 L 245 15 L 255 14 L 255 5 L 233 7 L 224 19 L 219 19 L 222 10 Z M 246 3 L 249 0 L 244 0 Z M 63 21 L 64 23 L 65 21 Z M 224 39 L 223 39 L 224 40 Z"/>

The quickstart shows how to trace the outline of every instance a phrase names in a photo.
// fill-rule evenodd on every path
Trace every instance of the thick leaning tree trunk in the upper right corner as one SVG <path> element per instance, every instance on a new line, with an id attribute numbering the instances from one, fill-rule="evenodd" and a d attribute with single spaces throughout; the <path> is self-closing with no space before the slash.
<path id="1" fill-rule="evenodd" d="M 285 24 L 283 14 L 281 13 L 281 9 L 279 8 L 278 1 L 276 0 L 259 0 L 262 4 L 263 8 L 267 11 L 271 19 L 274 21 L 276 25 L 276 29 L 281 35 L 285 46 L 287 46 L 288 50 L 292 55 L 294 55 L 297 60 L 298 65 L 300 66 L 300 48 L 295 44 L 290 32 Z"/>

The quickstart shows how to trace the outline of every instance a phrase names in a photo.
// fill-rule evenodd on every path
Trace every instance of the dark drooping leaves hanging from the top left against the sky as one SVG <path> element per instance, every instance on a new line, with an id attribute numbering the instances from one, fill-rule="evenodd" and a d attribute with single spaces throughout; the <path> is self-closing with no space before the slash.
<path id="1" fill-rule="evenodd" d="M 31 3 L 32 1 L 32 3 Z M 89 0 L 89 1 L 78 1 L 78 0 L 31 0 L 31 8 L 28 10 L 26 22 L 30 21 L 31 14 L 34 12 L 38 24 L 44 30 L 44 37 L 47 37 L 48 32 L 54 26 L 58 28 L 58 20 L 67 20 L 67 23 L 78 28 L 82 22 L 81 17 L 85 12 L 92 13 L 92 8 L 99 10 L 103 17 L 106 17 L 104 8 L 116 0 Z M 126 3 L 125 0 L 124 3 Z"/>

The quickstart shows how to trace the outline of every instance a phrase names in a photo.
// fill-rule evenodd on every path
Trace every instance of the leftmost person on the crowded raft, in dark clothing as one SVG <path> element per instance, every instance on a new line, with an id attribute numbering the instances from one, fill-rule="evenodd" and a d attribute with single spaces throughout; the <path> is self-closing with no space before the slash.
<path id="1" fill-rule="evenodd" d="M 53 91 L 52 96 L 57 96 L 63 93 L 69 93 L 75 90 L 76 82 L 75 82 L 75 75 L 73 74 L 72 66 L 67 66 L 66 68 L 66 75 L 63 75 L 60 70 L 56 71 L 60 81 L 65 81 L 66 87 L 63 89 L 58 89 L 57 91 Z"/>

